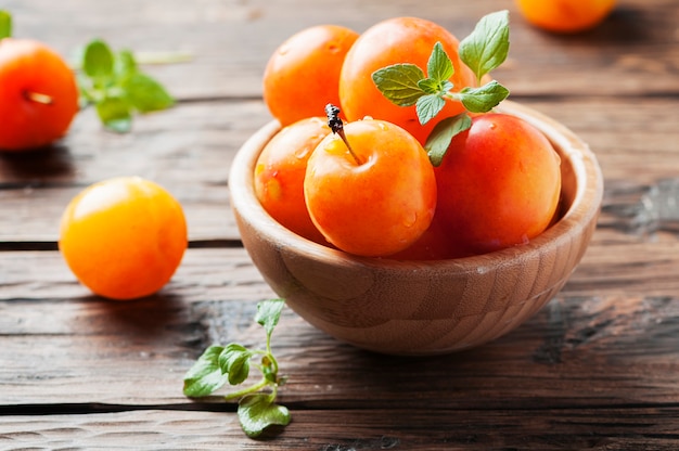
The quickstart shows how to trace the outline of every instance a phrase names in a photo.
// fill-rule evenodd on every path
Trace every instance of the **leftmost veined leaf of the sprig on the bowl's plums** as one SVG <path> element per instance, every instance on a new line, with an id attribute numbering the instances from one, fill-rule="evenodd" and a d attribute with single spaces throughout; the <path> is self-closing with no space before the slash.
<path id="1" fill-rule="evenodd" d="M 372 74 L 372 80 L 392 103 L 399 106 L 414 105 L 424 92 L 418 86 L 424 73 L 414 64 L 394 64 Z"/>

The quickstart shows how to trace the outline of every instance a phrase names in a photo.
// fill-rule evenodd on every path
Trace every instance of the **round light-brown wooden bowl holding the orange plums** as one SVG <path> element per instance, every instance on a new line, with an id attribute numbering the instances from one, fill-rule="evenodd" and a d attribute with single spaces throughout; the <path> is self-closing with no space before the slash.
<path id="1" fill-rule="evenodd" d="M 585 254 L 603 178 L 587 144 L 561 124 L 509 101 L 498 109 L 535 125 L 561 155 L 562 212 L 542 234 L 517 247 L 438 261 L 356 257 L 303 239 L 255 195 L 257 156 L 280 129 L 272 121 L 243 144 L 229 179 L 243 245 L 264 279 L 310 324 L 376 352 L 451 352 L 522 324 L 563 287 Z"/>

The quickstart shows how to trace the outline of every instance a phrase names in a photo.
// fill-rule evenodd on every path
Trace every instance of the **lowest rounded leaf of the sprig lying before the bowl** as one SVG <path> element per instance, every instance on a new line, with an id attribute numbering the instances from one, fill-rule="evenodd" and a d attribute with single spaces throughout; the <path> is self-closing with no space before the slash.
<path id="1" fill-rule="evenodd" d="M 247 395 L 239 402 L 239 420 L 248 437 L 258 437 L 272 425 L 287 426 L 291 414 L 287 408 L 273 403 L 267 394 Z"/>

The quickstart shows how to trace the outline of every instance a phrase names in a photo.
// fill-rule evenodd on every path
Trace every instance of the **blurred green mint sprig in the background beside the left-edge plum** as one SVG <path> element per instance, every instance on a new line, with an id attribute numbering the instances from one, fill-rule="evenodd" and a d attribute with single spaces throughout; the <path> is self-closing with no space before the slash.
<path id="1" fill-rule="evenodd" d="M 120 133 L 131 129 L 136 113 L 165 109 L 174 98 L 138 66 L 132 52 L 113 52 L 101 39 L 82 52 L 78 85 L 84 103 L 93 104 L 102 124 Z"/>

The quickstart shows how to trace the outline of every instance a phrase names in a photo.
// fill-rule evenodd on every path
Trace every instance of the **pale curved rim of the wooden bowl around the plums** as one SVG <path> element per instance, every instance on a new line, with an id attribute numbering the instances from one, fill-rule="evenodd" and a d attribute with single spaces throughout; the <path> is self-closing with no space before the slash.
<path id="1" fill-rule="evenodd" d="M 274 242 L 279 248 L 294 249 L 295 254 L 308 255 L 313 259 L 323 260 L 326 265 L 360 265 L 406 271 L 423 267 L 445 270 L 450 267 L 458 272 L 460 270 L 477 272 L 488 265 L 509 265 L 517 255 L 530 258 L 530 254 L 539 253 L 545 246 L 571 241 L 574 235 L 579 235 L 584 229 L 597 220 L 603 199 L 603 175 L 589 145 L 564 125 L 533 107 L 509 100 L 503 101 L 496 111 L 521 117 L 542 131 L 562 154 L 562 158 L 564 156 L 568 158 L 574 177 L 578 181 L 571 206 L 558 221 L 528 243 L 454 259 L 397 260 L 388 257 L 356 256 L 297 235 L 265 210 L 257 199 L 253 182 L 259 153 L 264 145 L 282 129 L 281 124 L 276 119 L 265 124 L 253 133 L 235 154 L 228 179 L 231 207 L 234 212 L 238 212 L 236 218 L 240 216 L 240 220 L 252 224 L 260 236 L 264 235 L 267 240 Z"/>

